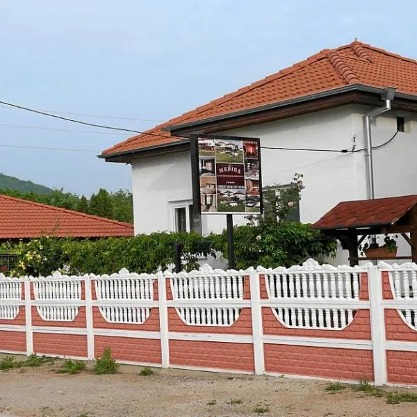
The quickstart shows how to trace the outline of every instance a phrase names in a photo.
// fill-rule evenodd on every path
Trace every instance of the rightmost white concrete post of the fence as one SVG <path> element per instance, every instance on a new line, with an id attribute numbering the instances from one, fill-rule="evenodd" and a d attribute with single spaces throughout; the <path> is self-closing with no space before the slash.
<path id="1" fill-rule="evenodd" d="M 368 266 L 370 335 L 376 386 L 386 384 L 385 317 L 382 306 L 382 276 L 376 265 Z"/>

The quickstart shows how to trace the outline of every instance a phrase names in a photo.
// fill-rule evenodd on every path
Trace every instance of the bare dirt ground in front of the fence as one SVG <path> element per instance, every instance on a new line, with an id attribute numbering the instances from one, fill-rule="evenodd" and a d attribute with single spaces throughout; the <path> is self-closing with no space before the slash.
<path id="1" fill-rule="evenodd" d="M 0 416 L 417 416 L 417 403 L 387 404 L 350 388 L 330 393 L 329 383 L 312 379 L 172 369 L 140 376 L 134 366 L 67 375 L 54 372 L 59 366 L 0 371 Z"/>

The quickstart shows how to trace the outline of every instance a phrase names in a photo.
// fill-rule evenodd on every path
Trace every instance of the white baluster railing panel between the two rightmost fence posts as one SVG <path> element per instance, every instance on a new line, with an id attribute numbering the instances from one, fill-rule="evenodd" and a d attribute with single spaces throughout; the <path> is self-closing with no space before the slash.
<path id="1" fill-rule="evenodd" d="M 276 304 L 272 311 L 282 325 L 341 330 L 356 314 L 357 310 L 348 306 L 343 308 L 343 304 L 359 300 L 360 274 L 366 272 L 366 268 L 345 265 L 336 268 L 309 259 L 301 266 L 259 267 L 258 272 L 265 277 L 268 297 Z M 300 306 L 303 301 L 309 304 Z"/>

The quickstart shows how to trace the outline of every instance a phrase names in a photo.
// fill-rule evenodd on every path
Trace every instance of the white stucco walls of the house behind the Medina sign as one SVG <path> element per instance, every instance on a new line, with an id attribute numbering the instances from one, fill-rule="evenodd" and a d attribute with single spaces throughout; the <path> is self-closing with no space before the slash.
<path id="1" fill-rule="evenodd" d="M 343 106 L 276 122 L 257 124 L 218 134 L 261 138 L 261 147 L 357 149 L 365 146 L 365 106 Z M 373 124 L 374 145 L 385 142 L 396 130 L 396 115 L 407 121 L 408 133 L 398 133 L 386 147 L 374 152 L 375 195 L 389 197 L 417 193 L 417 122 L 407 113 L 386 113 Z M 262 149 L 263 186 L 289 183 L 295 172 L 304 174 L 300 215 L 302 222 L 316 222 L 338 202 L 367 198 L 365 152 L 298 152 Z M 190 154 L 181 152 L 132 163 L 135 233 L 173 230 L 173 202 L 191 202 Z M 245 222 L 234 216 L 236 224 Z M 226 227 L 224 215 L 202 217 L 203 233 Z M 401 245 L 402 254 L 409 248 Z M 405 251 L 405 252 L 404 252 Z M 337 263 L 347 261 L 339 254 Z"/>

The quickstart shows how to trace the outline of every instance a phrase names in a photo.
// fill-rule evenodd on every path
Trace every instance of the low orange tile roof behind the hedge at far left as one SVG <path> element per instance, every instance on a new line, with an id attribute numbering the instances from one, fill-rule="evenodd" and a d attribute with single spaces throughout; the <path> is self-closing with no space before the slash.
<path id="1" fill-rule="evenodd" d="M 0 239 L 133 236 L 128 223 L 0 195 Z"/>

